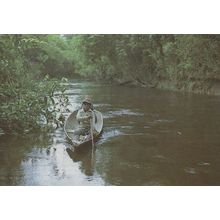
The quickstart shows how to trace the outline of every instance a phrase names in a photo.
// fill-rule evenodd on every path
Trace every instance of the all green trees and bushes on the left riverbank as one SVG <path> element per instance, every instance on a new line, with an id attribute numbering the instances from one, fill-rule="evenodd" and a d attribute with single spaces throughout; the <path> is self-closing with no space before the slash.
<path id="1" fill-rule="evenodd" d="M 42 121 L 57 122 L 68 105 L 62 81 L 45 74 L 48 62 L 60 57 L 49 53 L 52 46 L 46 40 L 37 35 L 0 36 L 0 128 L 5 133 L 36 129 Z"/>

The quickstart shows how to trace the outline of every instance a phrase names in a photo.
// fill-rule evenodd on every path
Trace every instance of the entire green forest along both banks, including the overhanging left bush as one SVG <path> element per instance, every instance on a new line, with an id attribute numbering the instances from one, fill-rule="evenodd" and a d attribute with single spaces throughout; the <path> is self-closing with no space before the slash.
<path id="1" fill-rule="evenodd" d="M 58 123 L 66 78 L 209 93 L 219 70 L 219 35 L 0 35 L 0 127 Z"/>

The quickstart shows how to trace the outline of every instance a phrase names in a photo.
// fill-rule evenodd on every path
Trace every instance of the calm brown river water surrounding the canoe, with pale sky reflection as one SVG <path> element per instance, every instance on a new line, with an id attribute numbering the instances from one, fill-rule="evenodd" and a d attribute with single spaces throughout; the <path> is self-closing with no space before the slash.
<path id="1" fill-rule="evenodd" d="M 104 116 L 91 150 L 69 154 L 62 128 L 0 136 L 0 185 L 220 185 L 220 97 L 89 82 L 67 85 L 71 109 L 90 94 Z"/>

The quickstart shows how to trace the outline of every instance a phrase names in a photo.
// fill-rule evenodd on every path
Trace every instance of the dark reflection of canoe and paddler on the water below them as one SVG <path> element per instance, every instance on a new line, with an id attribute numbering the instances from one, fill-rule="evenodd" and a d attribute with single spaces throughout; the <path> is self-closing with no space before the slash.
<path id="1" fill-rule="evenodd" d="M 74 162 L 81 162 L 80 169 L 85 175 L 92 176 L 94 174 L 93 162 L 95 153 L 93 153 L 92 157 L 91 146 L 83 146 L 82 149 L 74 152 L 67 148 L 67 153 Z"/>

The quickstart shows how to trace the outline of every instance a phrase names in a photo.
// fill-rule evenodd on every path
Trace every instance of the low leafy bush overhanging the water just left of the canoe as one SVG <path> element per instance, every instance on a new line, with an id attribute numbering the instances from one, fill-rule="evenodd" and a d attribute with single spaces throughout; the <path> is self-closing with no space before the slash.
<path id="1" fill-rule="evenodd" d="M 16 87 L 16 83 L 13 86 Z M 10 91 L 10 88 L 5 85 L 3 90 Z M 1 105 L 2 129 L 5 132 L 23 132 L 40 128 L 45 122 L 57 123 L 69 104 L 64 92 L 65 87 L 59 81 L 50 80 L 48 76 L 39 83 L 29 80 Z"/>

